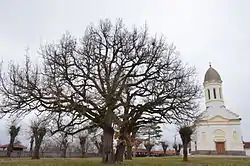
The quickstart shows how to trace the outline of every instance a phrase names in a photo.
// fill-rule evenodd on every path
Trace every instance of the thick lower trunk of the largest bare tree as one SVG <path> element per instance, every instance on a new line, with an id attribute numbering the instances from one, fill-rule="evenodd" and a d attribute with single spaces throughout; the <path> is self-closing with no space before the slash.
<path id="1" fill-rule="evenodd" d="M 111 125 L 106 125 L 103 129 L 103 153 L 102 162 L 107 164 L 114 163 L 113 152 L 114 129 Z"/>

